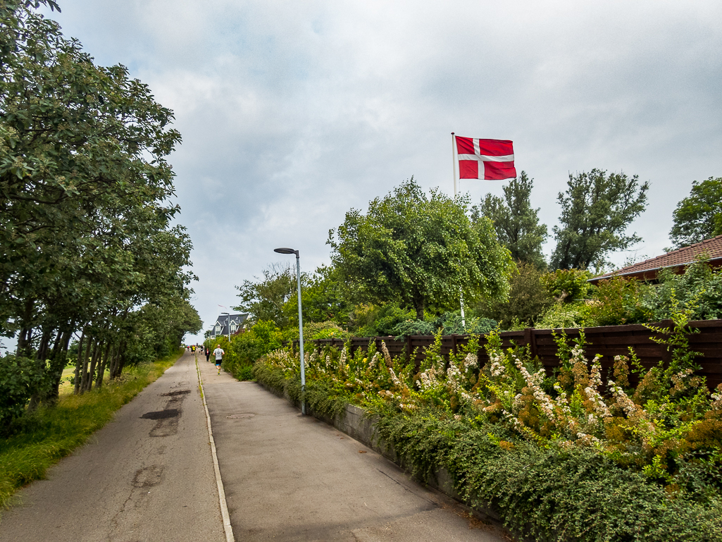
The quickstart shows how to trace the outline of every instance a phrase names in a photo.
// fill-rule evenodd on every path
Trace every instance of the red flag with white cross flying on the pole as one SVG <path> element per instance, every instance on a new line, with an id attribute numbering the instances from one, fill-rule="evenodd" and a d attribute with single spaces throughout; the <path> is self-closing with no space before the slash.
<path id="1" fill-rule="evenodd" d="M 512 142 L 472 137 L 455 137 L 455 139 L 458 178 L 503 181 L 505 178 L 516 177 Z"/>

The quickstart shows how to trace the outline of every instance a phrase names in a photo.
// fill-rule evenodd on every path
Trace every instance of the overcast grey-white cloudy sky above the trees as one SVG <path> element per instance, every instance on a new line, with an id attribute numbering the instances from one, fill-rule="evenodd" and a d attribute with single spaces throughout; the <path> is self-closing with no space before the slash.
<path id="1" fill-rule="evenodd" d="M 66 36 L 175 111 L 206 329 L 238 303 L 235 285 L 286 261 L 275 247 L 300 249 L 310 271 L 351 207 L 412 175 L 451 194 L 451 132 L 513 140 L 550 233 L 570 172 L 650 181 L 638 256 L 669 246 L 693 180 L 722 176 L 719 0 L 60 5 Z M 461 181 L 474 202 L 502 186 Z"/>

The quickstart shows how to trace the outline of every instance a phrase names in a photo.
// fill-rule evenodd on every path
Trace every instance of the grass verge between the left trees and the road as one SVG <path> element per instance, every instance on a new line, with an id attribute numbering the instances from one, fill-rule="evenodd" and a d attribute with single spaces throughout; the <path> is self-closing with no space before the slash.
<path id="1" fill-rule="evenodd" d="M 0 441 L 0 509 L 9 506 L 17 489 L 45 478 L 48 468 L 86 442 L 182 354 L 130 367 L 117 382 L 83 395 L 63 395 L 55 407 L 23 418 L 18 431 Z"/>

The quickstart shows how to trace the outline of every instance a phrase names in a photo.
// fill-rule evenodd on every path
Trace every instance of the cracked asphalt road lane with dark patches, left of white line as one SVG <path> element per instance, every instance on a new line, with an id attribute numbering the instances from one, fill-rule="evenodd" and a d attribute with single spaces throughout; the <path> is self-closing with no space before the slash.
<path id="1" fill-rule="evenodd" d="M 0 541 L 225 541 L 195 357 L 184 354 L 18 498 Z"/>

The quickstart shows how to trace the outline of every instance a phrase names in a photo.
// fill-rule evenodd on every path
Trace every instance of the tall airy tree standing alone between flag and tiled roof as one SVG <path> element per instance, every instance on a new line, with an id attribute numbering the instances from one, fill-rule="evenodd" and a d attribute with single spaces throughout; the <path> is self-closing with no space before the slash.
<path id="1" fill-rule="evenodd" d="M 625 231 L 645 209 L 648 189 L 649 183 L 640 184 L 636 175 L 596 168 L 570 174 L 567 190 L 557 198 L 562 225 L 554 226 L 552 268 L 587 268 L 603 262 L 609 252 L 641 241 L 636 233 L 627 236 Z"/>

